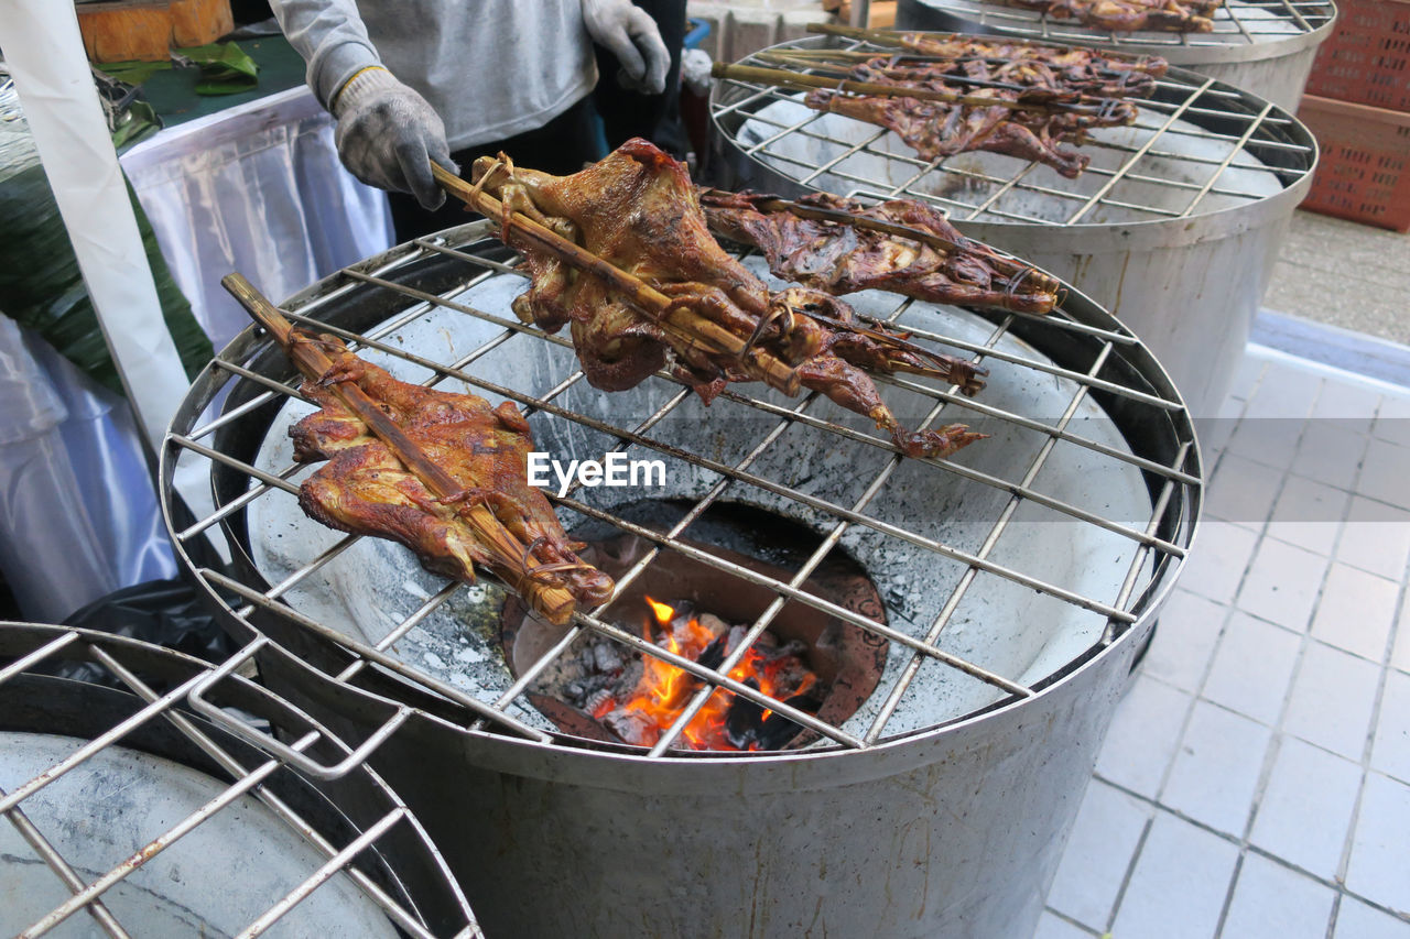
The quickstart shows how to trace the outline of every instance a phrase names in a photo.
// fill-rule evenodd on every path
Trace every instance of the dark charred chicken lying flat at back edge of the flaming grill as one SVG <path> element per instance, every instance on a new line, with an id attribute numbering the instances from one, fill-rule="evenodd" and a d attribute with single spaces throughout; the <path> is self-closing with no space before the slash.
<path id="1" fill-rule="evenodd" d="M 1022 313 L 1049 313 L 1058 300 L 1056 279 L 970 241 L 939 209 L 915 199 L 867 206 L 809 193 L 785 203 L 774 196 L 708 189 L 701 193 L 701 206 L 711 231 L 760 248 L 776 276 L 828 293 L 878 289 L 933 303 Z"/>

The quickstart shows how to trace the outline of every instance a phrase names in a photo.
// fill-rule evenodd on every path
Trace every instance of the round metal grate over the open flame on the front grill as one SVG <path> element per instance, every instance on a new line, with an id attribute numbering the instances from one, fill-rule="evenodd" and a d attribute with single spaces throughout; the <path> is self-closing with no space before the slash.
<path id="1" fill-rule="evenodd" d="M 658 551 L 667 550 L 678 551 L 702 564 L 726 571 L 742 581 L 763 585 L 776 595 L 776 599 L 750 625 L 747 640 L 740 643 L 718 668 L 706 668 L 695 661 L 674 656 L 623 629 L 619 623 L 606 622 L 601 618 L 601 608 L 596 610 L 580 609 L 571 629 L 546 654 L 525 668 L 517 680 L 496 694 L 492 701 L 482 701 L 484 695 L 477 695 L 475 689 L 467 691 L 465 687 L 457 687 L 455 682 L 431 677 L 426 670 L 409 664 L 395 653 L 396 643 L 403 640 L 434 610 L 451 603 L 453 598 L 462 591 L 478 588 L 446 584 L 443 589 L 424 601 L 417 599 L 416 612 L 392 625 L 378 642 L 364 643 L 351 639 L 340 623 L 320 622 L 319 618 L 307 616 L 296 606 L 290 608 L 282 601 L 299 582 L 317 578 L 320 571 L 333 564 L 358 540 L 355 537 L 341 539 L 336 546 L 272 585 L 262 582 L 257 574 L 248 570 L 231 574 L 217 570 L 214 565 L 193 561 L 192 550 L 204 532 L 223 530 L 235 543 L 237 554 L 243 554 L 241 541 L 248 537 L 243 520 L 251 505 L 258 501 L 290 499 L 298 491 L 296 485 L 290 482 L 290 478 L 298 472 L 296 467 L 288 465 L 276 472 L 266 472 L 254 465 L 248 448 L 237 451 L 238 448 L 220 443 L 223 436 L 226 438 L 238 437 L 243 423 L 250 424 L 254 436 L 265 434 L 269 412 L 281 406 L 283 399 L 296 396 L 296 389 L 283 381 L 293 374 L 292 367 L 282 358 L 282 352 L 271 348 L 264 337 L 251 330 L 216 357 L 197 379 L 190 398 L 183 403 L 173 423 L 162 460 L 164 506 L 171 520 L 171 481 L 179 465 L 195 462 L 202 467 L 202 472 L 234 475 L 241 481 L 248 481 L 247 491 L 230 496 L 214 512 L 192 523 L 173 526 L 178 550 L 213 598 L 219 598 L 220 591 L 240 598 L 235 602 L 220 601 L 223 609 L 235 619 L 264 626 L 271 622 L 293 625 L 350 650 L 352 653 L 351 663 L 336 674 L 336 680 L 340 682 L 357 687 L 371 675 L 393 674 L 461 705 L 464 719 L 472 729 L 515 735 L 540 744 L 599 746 L 575 737 L 544 733 L 523 719 L 523 709 L 529 706 L 525 702 L 525 695 L 536 677 L 561 657 L 581 634 L 591 630 L 630 650 L 677 665 L 705 682 L 691 701 L 691 706 L 651 749 L 650 756 L 681 753 L 670 750 L 670 743 L 675 740 L 715 688 L 725 688 L 788 716 L 825 737 L 822 742 L 825 746 L 832 743 L 840 747 L 866 749 L 888 739 L 888 722 L 897 702 L 914 688 L 916 674 L 924 668 L 939 667 L 969 675 L 971 680 L 983 682 L 993 692 L 995 702 L 1029 698 L 1050 678 L 1049 675 L 1042 681 L 1024 682 L 948 651 L 942 647 L 943 643 L 938 642 L 952 625 L 956 609 L 966 592 L 971 589 L 976 578 L 998 578 L 1010 585 L 1036 591 L 1063 606 L 1089 610 L 1107 623 L 1104 632 L 1098 630 L 1100 639 L 1089 650 L 1089 653 L 1096 653 L 1115 642 L 1132 623 L 1159 605 L 1180 560 L 1184 557 L 1184 546 L 1189 543 L 1197 517 L 1201 485 L 1198 455 L 1189 416 L 1141 343 L 1120 323 L 1093 307 L 1090 302 L 1074 296 L 1066 307 L 1050 317 L 994 314 L 986 327 L 987 338 L 983 341 L 959 341 L 925 330 L 914 331 L 912 338 L 922 344 L 945 347 L 950 351 L 957 348 L 979 362 L 1004 364 L 1024 374 L 1042 375 L 1045 381 L 1065 382 L 1065 388 L 1070 385 L 1073 391 L 1066 409 L 1056 417 L 1014 413 L 995 407 L 984 402 L 983 393 L 979 399 L 971 400 L 959 395 L 953 386 L 928 386 L 904 378 L 883 379 L 883 392 L 888 391 L 887 385 L 890 386 L 888 396 L 908 392 L 916 400 L 924 402 L 924 424 L 932 424 L 942 419 L 971 423 L 987 420 L 994 424 L 1022 429 L 1042 440 L 1042 446 L 1036 448 L 1031 461 L 1026 465 L 1014 467 L 1012 475 L 1001 477 L 976 470 L 966 465 L 966 461 L 959 457 L 929 461 L 922 467 L 926 479 L 929 479 L 928 485 L 973 486 L 976 491 L 1000 493 L 1003 508 L 987 523 L 987 537 L 976 548 L 967 548 L 938 540 L 918 526 L 897 524 L 874 510 L 878 496 L 891 495 L 885 492 L 887 484 L 898 467 L 918 461 L 904 460 L 890 440 L 870 430 L 860 430 L 828 419 L 826 415 L 821 413 L 823 410 L 822 399 L 815 393 L 790 400 L 750 393 L 756 386 L 732 386 L 713 405 L 712 410 L 706 412 L 705 420 L 712 420 L 711 415 L 719 415 L 721 427 L 729 427 L 732 417 L 722 412 L 730 407 L 735 409 L 732 412 L 735 415 L 747 415 L 752 420 L 760 422 L 747 424 L 757 426 L 760 430 L 735 451 L 737 455 L 715 458 L 702 451 L 674 446 L 670 440 L 653 433 L 673 415 L 684 413 L 681 409 L 685 402 L 694 400 L 688 388 L 675 383 L 664 374 L 643 385 L 643 388 L 650 385 L 660 392 L 660 399 L 664 403 L 643 409 L 640 402 L 633 398 L 636 389 L 620 392 L 601 399 L 611 407 L 608 417 L 591 416 L 582 413 L 581 409 L 574 410 L 560 403 L 570 389 L 582 391 L 582 385 L 580 385 L 584 378 L 582 372 L 578 371 L 577 361 L 570 357 L 561 360 L 570 364 L 564 365 L 561 372 L 551 375 L 536 376 L 532 369 L 519 369 L 523 374 L 516 372 L 516 381 L 512 382 L 512 386 L 477 375 L 477 369 L 488 362 L 489 357 L 509 355 L 513 344 L 568 345 L 563 337 L 544 336 L 536 329 L 520 324 L 508 312 L 508 306 L 482 309 L 465 302 L 467 290 L 516 271 L 517 259 L 494 243 L 488 237 L 489 231 L 489 223 L 475 223 L 434 238 L 423 238 L 403 245 L 386 255 L 340 271 L 285 305 L 285 310 L 290 320 L 340 336 L 354 350 L 379 351 L 393 357 L 393 360 L 402 360 L 409 368 L 429 369 L 423 381 L 426 385 L 439 385 L 447 381 L 464 382 L 472 392 L 516 402 L 529 416 L 540 446 L 543 446 L 541 441 L 546 436 L 551 437 L 558 430 L 570 427 L 574 429 L 574 433 L 595 434 L 611 441 L 609 450 L 658 455 L 673 461 L 673 465 L 709 474 L 713 482 L 694 496 L 689 509 L 680 522 L 664 532 L 637 524 L 618 512 L 603 509 L 581 491 L 568 492 L 564 498 L 554 498 L 553 502 L 568 530 L 578 522 L 594 519 L 620 532 L 637 534 L 653 546 L 623 577 L 618 578 L 619 591 L 640 577 Z M 513 285 L 513 292 L 517 292 L 523 281 L 515 278 Z M 887 297 L 887 303 L 890 312 L 883 319 L 902 327 L 908 327 L 908 313 L 924 306 L 909 300 L 902 302 L 900 297 Z M 447 312 L 465 317 L 462 321 L 467 326 L 474 324 L 477 329 L 486 330 L 477 333 L 477 336 L 488 338 L 482 341 L 477 338 L 478 345 L 472 351 L 457 355 L 451 361 L 437 361 L 426 354 L 409 352 L 395 341 L 395 337 L 409 329 L 419 317 Z M 334 324 L 324 324 L 323 320 L 333 320 Z M 1034 347 L 1046 345 L 1067 350 L 1067 361 L 1074 362 L 1074 365 L 1069 368 L 1042 355 L 1015 352 L 1004 347 L 1005 337 L 1019 336 L 1024 337 L 1025 343 L 1032 343 Z M 543 391 L 536 391 L 536 385 L 541 385 Z M 231 398 L 237 403 L 227 405 L 226 412 L 220 416 L 210 416 L 207 407 L 213 400 L 221 398 L 230 386 L 237 388 Z M 1112 419 L 1118 420 L 1124 431 L 1129 429 L 1128 437 L 1132 440 L 1129 450 L 1093 438 L 1083 433 L 1081 422 L 1073 420 L 1080 409 L 1090 409 L 1093 400 L 1100 400 Z M 633 415 L 633 417 L 627 420 L 623 419 L 625 415 Z M 874 472 L 866 478 L 864 484 L 859 479 L 854 491 L 840 495 L 804 491 L 757 472 L 759 461 L 768 455 L 771 448 L 778 447 L 781 438 L 799 433 L 823 436 L 832 441 L 829 446 L 854 447 L 857 453 L 871 454 L 876 460 Z M 1139 477 L 1145 485 L 1144 492 L 1149 495 L 1149 505 L 1142 512 L 1142 517 L 1134 520 L 1110 517 L 1100 508 L 1055 498 L 1042 479 L 1043 468 L 1049 464 L 1055 448 L 1059 447 L 1079 448 L 1094 460 L 1125 467 Z M 688 540 L 691 526 L 702 517 L 706 509 L 737 496 L 740 491 L 746 489 L 771 493 L 776 499 L 805 508 L 821 520 L 818 524 L 821 543 L 788 579 L 776 579 L 739 567 L 699 550 Z M 219 485 L 217 491 L 220 491 Z M 1107 533 L 1107 537 L 1118 539 L 1128 546 L 1128 568 L 1120 589 L 1110 595 L 1087 595 L 1070 585 L 1045 581 L 1029 571 L 995 560 L 994 546 L 1021 506 L 1041 506 L 1065 523 Z M 869 537 L 898 548 L 919 553 L 929 558 L 929 564 L 956 565 L 956 570 L 963 570 L 963 575 L 959 577 L 938 616 L 914 626 L 887 625 L 799 589 L 808 574 L 853 529 L 866 532 Z M 787 601 L 804 603 L 883 636 L 909 656 L 909 661 L 895 670 L 890 681 L 884 680 L 876 692 L 884 705 L 864 729 L 849 730 L 833 726 L 761 695 L 753 687 L 728 675 L 735 661 L 768 627 Z M 749 756 L 768 759 L 770 754 Z"/>

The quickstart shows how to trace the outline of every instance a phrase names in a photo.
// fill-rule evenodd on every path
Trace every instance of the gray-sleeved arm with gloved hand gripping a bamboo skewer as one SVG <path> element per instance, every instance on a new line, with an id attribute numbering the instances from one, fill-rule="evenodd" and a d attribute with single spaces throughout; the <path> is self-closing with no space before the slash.
<path id="1" fill-rule="evenodd" d="M 457 172 L 446 125 L 415 89 L 382 66 L 352 0 L 271 0 L 289 45 L 309 63 L 309 87 L 333 111 L 338 158 L 354 176 L 409 192 L 426 209 L 446 193 L 431 161 Z"/>

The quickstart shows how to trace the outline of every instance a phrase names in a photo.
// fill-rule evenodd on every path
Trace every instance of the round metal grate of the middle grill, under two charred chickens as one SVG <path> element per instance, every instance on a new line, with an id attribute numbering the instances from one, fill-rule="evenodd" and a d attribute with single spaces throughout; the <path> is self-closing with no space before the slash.
<path id="1" fill-rule="evenodd" d="M 828 45 L 811 38 L 770 51 Z M 838 47 L 895 52 L 854 39 Z M 733 79 L 718 83 L 712 113 L 735 159 L 763 164 L 805 189 L 863 200 L 924 199 L 960 223 L 1190 219 L 1263 200 L 1316 162 L 1316 144 L 1290 116 L 1193 72 L 1170 69 L 1149 99 L 1134 103 L 1139 114 L 1132 127 L 1101 128 L 1081 144 L 1093 161 L 1076 180 L 995 154 L 925 161 L 881 127 L 814 111 L 792 92 Z"/>

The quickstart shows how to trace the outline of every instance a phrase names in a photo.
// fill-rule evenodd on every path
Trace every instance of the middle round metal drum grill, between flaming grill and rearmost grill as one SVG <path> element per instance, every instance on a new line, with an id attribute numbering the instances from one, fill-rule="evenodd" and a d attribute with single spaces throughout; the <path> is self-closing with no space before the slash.
<path id="1" fill-rule="evenodd" d="M 890 131 L 752 82 L 718 82 L 711 109 L 716 165 L 730 168 L 735 188 L 931 202 L 964 234 L 1056 274 L 1128 323 L 1204 415 L 1232 379 L 1317 144 L 1276 106 L 1182 69 L 1135 103 L 1134 125 L 1090 131 L 1081 151 L 1091 164 L 1077 179 L 998 154 L 924 161 Z"/>

